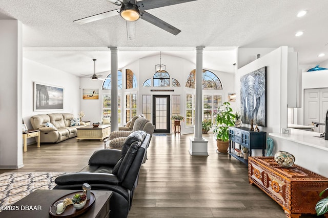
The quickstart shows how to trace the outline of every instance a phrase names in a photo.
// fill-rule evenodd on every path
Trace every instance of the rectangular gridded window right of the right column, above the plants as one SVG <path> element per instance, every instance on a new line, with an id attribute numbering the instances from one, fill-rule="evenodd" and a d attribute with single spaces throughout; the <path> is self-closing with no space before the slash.
<path id="1" fill-rule="evenodd" d="M 217 108 L 222 105 L 222 95 L 203 95 L 203 119 L 210 119 L 214 123 Z"/>

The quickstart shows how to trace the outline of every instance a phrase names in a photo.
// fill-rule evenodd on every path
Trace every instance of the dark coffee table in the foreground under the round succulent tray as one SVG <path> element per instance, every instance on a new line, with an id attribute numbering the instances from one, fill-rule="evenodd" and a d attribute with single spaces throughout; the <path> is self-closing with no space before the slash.
<path id="1" fill-rule="evenodd" d="M 2 205 L 0 217 L 38 217 L 49 218 L 50 206 L 59 198 L 68 193 L 76 192 L 77 190 L 41 190 L 38 189 L 22 200 L 4 209 L 6 205 Z M 95 195 L 94 204 L 85 213 L 79 215 L 80 218 L 109 217 L 109 200 L 113 194 L 112 191 L 97 191 L 91 190 Z"/>

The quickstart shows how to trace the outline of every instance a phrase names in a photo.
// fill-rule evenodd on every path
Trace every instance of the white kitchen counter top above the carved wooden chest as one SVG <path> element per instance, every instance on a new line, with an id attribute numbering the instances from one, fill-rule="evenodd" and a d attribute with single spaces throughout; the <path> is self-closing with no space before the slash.
<path id="1" fill-rule="evenodd" d="M 328 151 L 328 140 L 321 138 L 318 132 L 291 129 L 291 134 L 269 133 L 269 135 Z"/>

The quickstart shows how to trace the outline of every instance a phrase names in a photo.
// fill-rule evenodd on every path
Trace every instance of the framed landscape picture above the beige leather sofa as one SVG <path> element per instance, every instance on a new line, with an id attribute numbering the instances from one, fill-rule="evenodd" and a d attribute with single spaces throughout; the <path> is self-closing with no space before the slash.
<path id="1" fill-rule="evenodd" d="M 64 88 L 34 82 L 34 111 L 64 110 Z"/>

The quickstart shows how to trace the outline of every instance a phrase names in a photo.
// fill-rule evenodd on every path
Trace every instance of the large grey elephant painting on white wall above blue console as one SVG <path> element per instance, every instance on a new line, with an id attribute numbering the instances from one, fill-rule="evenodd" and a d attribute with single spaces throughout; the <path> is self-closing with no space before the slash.
<path id="1" fill-rule="evenodd" d="M 262 67 L 240 78 L 240 112 L 244 124 L 267 126 L 266 120 L 266 73 L 267 67 Z"/>

